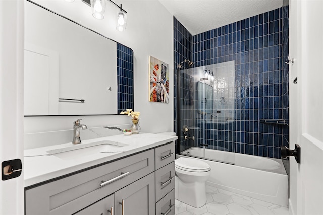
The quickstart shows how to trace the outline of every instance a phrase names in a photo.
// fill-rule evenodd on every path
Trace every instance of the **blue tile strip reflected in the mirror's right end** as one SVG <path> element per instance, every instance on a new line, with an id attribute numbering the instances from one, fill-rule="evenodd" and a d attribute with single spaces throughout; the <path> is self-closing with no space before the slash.
<path id="1" fill-rule="evenodd" d="M 133 51 L 117 43 L 118 113 L 133 109 Z"/>

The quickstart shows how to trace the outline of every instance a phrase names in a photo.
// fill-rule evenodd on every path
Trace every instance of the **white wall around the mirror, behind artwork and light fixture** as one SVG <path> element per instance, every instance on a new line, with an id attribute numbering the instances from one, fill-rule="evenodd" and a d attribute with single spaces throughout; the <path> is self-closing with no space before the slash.
<path id="1" fill-rule="evenodd" d="M 148 56 L 154 56 L 170 65 L 170 83 L 173 81 L 173 16 L 157 0 L 115 1 L 128 13 L 127 29 L 118 32 L 115 27 L 119 9 L 107 2 L 105 18 L 92 17 L 90 7 L 81 0 L 37 0 L 38 4 L 67 16 L 106 37 L 116 40 L 134 51 L 134 110 L 140 111 L 143 132 L 173 131 L 173 99 L 169 104 L 148 102 Z M 73 11 L 73 13 L 71 13 Z M 173 98 L 170 87 L 170 98 Z M 88 127 L 128 124 L 127 116 L 48 116 L 25 117 L 25 133 L 72 129 L 73 121 L 82 118 Z"/>

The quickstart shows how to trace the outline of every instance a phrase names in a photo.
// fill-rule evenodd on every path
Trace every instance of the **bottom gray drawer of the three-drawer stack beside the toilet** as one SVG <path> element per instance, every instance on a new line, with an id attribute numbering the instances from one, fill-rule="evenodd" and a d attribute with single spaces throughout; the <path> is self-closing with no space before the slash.
<path id="1" fill-rule="evenodd" d="M 175 189 L 156 203 L 156 215 L 175 215 Z"/>

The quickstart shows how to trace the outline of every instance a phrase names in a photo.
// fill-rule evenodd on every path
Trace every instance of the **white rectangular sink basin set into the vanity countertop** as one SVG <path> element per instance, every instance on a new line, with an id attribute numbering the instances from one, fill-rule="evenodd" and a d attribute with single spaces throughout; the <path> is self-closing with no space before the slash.
<path id="1" fill-rule="evenodd" d="M 91 142 L 89 144 L 79 144 L 70 147 L 53 149 L 46 152 L 48 153 L 48 155 L 56 156 L 64 160 L 72 160 L 98 153 L 119 153 L 122 152 L 122 147 L 125 146 L 129 145 L 104 140 Z"/>

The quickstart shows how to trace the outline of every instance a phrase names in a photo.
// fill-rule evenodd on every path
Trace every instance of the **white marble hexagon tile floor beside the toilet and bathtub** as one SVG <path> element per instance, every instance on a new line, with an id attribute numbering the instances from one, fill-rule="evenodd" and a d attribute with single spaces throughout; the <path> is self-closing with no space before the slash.
<path id="1" fill-rule="evenodd" d="M 206 204 L 195 208 L 175 199 L 176 215 L 288 215 L 288 208 L 206 185 Z"/>

